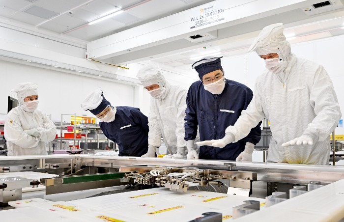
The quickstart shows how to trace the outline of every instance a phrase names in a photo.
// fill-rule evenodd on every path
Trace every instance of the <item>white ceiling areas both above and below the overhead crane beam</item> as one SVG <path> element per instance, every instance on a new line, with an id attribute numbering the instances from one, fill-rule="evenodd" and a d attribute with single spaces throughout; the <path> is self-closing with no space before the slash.
<path id="1" fill-rule="evenodd" d="M 213 0 L 0 0 L 0 18 L 89 42 L 211 1 Z M 88 25 L 118 8 L 124 12 L 100 23 Z M 297 43 L 342 35 L 343 25 L 344 17 L 339 14 L 332 19 L 286 28 L 285 34 L 290 43 Z M 205 49 L 197 48 L 154 57 L 154 61 L 172 67 L 189 67 L 204 55 L 231 56 L 246 53 L 253 39 L 252 36 L 246 36 L 214 44 L 207 42 Z"/>

